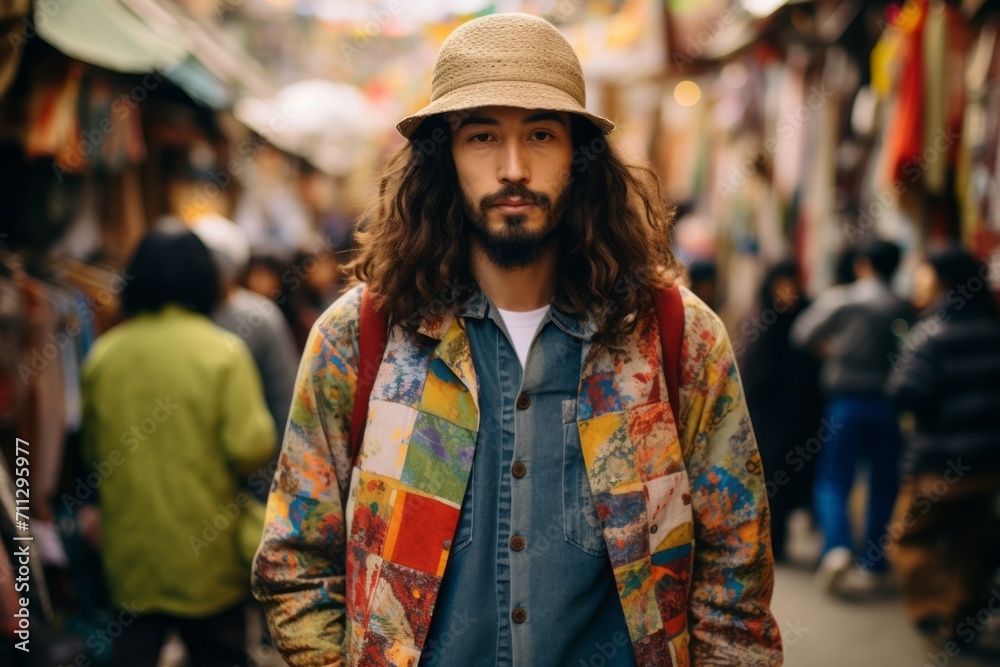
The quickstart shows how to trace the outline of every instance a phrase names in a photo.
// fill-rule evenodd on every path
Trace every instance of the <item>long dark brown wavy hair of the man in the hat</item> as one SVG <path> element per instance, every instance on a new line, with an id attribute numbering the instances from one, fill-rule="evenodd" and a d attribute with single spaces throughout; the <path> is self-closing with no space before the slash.
<path id="1" fill-rule="evenodd" d="M 626 164 L 591 123 L 571 116 L 573 158 L 559 222 L 554 303 L 591 311 L 597 339 L 630 332 L 657 290 L 682 273 L 670 249 L 673 208 L 652 170 Z M 469 223 L 443 116 L 428 118 L 389 157 L 376 199 L 361 220 L 347 267 L 367 283 L 391 323 L 415 330 L 428 315 L 476 291 Z"/>

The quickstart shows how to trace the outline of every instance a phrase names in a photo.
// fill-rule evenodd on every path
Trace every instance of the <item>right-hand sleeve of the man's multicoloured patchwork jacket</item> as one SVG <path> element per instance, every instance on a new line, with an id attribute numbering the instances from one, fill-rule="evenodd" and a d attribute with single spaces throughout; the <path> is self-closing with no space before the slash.
<path id="1" fill-rule="evenodd" d="M 691 479 L 692 665 L 781 665 L 771 614 L 774 558 L 760 454 L 732 345 L 719 319 L 685 299 L 681 446 Z"/>

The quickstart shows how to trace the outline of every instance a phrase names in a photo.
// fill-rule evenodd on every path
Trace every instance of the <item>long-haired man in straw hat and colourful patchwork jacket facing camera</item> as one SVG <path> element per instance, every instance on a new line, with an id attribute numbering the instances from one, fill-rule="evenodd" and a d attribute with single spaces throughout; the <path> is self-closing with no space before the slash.
<path id="1" fill-rule="evenodd" d="M 355 468 L 360 286 L 299 371 L 253 579 L 275 645 L 294 667 L 780 665 L 760 457 L 686 290 L 676 422 L 667 400 L 654 180 L 541 19 L 456 30 L 431 99 L 361 235 L 392 326 Z"/>

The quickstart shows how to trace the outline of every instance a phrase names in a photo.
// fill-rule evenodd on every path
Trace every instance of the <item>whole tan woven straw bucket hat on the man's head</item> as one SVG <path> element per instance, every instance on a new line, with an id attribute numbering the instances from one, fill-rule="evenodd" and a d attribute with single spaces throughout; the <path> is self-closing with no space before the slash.
<path id="1" fill-rule="evenodd" d="M 552 24 L 530 14 L 493 14 L 448 36 L 434 63 L 431 103 L 396 125 L 409 138 L 429 116 L 485 106 L 567 111 L 605 134 L 615 128 L 586 110 L 576 52 Z"/>

